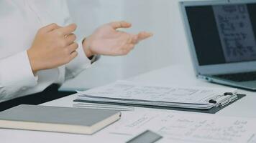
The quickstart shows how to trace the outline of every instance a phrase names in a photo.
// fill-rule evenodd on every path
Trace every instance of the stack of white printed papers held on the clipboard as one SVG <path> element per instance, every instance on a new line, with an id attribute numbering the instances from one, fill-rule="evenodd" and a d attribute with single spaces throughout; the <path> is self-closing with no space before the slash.
<path id="1" fill-rule="evenodd" d="M 168 87 L 136 84 L 134 82 L 119 81 L 103 87 L 78 92 L 79 97 L 104 99 L 130 99 L 150 102 L 173 102 L 187 104 L 209 104 L 224 92 L 235 93 L 232 88 L 204 88 L 204 87 Z M 124 100 L 125 101 L 125 100 Z"/>

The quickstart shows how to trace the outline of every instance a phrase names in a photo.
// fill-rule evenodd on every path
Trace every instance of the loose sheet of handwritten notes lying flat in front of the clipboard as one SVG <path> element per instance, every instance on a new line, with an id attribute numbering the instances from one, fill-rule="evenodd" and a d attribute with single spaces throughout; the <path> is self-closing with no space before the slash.
<path id="1" fill-rule="evenodd" d="M 117 122 L 109 132 L 134 136 L 150 129 L 164 137 L 159 142 L 256 142 L 256 119 L 170 112 L 144 112 L 133 116 L 133 119 Z"/>

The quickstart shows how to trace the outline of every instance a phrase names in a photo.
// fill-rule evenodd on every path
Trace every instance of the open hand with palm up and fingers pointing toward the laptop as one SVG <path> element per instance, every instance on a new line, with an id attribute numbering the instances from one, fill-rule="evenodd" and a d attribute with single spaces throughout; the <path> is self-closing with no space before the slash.
<path id="1" fill-rule="evenodd" d="M 152 36 L 148 32 L 129 34 L 117 31 L 119 28 L 129 28 L 132 24 L 126 21 L 117 21 L 105 24 L 83 41 L 83 49 L 87 57 L 94 54 L 119 56 L 128 54 L 141 40 Z"/>

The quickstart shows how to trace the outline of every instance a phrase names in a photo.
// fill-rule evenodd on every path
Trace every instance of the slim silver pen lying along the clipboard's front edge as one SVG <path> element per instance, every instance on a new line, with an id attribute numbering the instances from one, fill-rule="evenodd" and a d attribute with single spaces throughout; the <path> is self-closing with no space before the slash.
<path id="1" fill-rule="evenodd" d="M 73 104 L 73 107 L 81 107 L 86 109 L 110 109 L 110 110 L 119 110 L 119 111 L 133 111 L 134 107 L 122 107 L 109 104 L 93 104 L 93 103 L 78 103 Z"/>

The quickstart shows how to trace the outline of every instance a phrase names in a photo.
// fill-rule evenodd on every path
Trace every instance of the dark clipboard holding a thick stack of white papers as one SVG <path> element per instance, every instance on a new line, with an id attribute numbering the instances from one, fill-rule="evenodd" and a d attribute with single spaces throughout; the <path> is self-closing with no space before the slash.
<path id="1" fill-rule="evenodd" d="M 78 92 L 75 102 L 211 109 L 223 107 L 237 99 L 237 89 L 234 88 L 170 87 L 118 81 L 85 92 Z"/>

